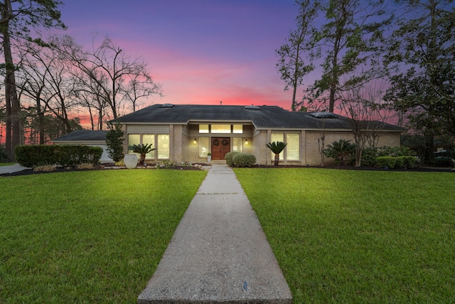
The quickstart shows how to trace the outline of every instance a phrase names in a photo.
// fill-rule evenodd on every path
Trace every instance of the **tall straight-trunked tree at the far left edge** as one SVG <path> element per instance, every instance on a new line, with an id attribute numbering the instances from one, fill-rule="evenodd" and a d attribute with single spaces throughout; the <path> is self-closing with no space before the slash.
<path id="1" fill-rule="evenodd" d="M 65 28 L 60 21 L 58 0 L 1 0 L 0 35 L 4 51 L 5 100 L 6 100 L 6 153 L 14 159 L 14 148 L 21 144 L 21 103 L 16 91 L 16 77 L 11 39 L 30 36 L 31 28 Z M 39 39 L 35 40 L 39 41 Z"/>

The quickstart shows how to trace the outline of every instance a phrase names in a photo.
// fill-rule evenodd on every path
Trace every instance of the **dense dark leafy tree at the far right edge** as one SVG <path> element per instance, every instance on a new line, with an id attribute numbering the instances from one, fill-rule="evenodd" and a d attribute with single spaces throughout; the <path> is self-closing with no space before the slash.
<path id="1" fill-rule="evenodd" d="M 430 161 L 436 137 L 455 137 L 455 10 L 451 0 L 402 2 L 412 18 L 400 20 L 390 38 L 385 99 L 425 138 Z"/>

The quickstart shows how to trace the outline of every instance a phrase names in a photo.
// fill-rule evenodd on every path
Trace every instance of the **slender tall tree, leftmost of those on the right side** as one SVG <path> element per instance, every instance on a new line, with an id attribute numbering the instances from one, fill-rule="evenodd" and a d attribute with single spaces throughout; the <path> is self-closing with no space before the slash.
<path id="1" fill-rule="evenodd" d="M 287 42 L 275 50 L 279 56 L 277 69 L 286 84 L 284 90 L 289 90 L 289 86 L 292 88 L 292 111 L 296 111 L 301 104 L 296 102 L 297 88 L 302 84 L 304 76 L 314 69 L 311 58 L 309 63 L 305 63 L 304 56 L 313 47 L 309 37 L 314 30 L 311 24 L 318 16 L 319 1 L 298 0 L 296 5 L 299 6 L 297 28 L 289 33 Z"/>

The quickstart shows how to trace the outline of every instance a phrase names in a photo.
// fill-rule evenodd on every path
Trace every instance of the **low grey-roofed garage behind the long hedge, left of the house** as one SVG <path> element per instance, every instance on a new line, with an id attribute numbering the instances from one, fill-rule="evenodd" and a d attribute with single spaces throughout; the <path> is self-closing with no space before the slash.
<path id="1" fill-rule="evenodd" d="M 56 138 L 52 142 L 55 145 L 85 145 L 102 147 L 103 152 L 100 162 L 113 162 L 107 154 L 106 134 L 107 131 L 103 130 L 75 130 L 74 132 Z"/>

